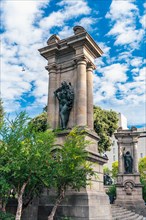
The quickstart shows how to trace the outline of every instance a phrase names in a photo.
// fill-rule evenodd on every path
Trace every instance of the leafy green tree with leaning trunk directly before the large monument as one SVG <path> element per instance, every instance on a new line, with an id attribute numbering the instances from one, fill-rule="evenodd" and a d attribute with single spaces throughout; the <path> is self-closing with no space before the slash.
<path id="1" fill-rule="evenodd" d="M 94 175 L 91 164 L 87 161 L 88 154 L 86 146 L 89 144 L 85 140 L 84 132 L 77 128 L 73 129 L 67 136 L 61 149 L 54 151 L 54 161 L 48 167 L 52 172 L 42 171 L 45 186 L 56 191 L 56 202 L 48 216 L 48 220 L 53 220 L 57 207 L 65 197 L 68 188 L 79 191 L 82 187 L 90 184 L 90 179 Z M 46 168 L 44 168 L 46 170 Z M 50 183 L 52 185 L 50 185 Z"/>

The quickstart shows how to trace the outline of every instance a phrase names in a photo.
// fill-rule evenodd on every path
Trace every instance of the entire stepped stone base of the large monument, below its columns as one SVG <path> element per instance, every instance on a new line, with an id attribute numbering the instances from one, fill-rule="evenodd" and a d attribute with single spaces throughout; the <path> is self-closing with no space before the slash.
<path id="1" fill-rule="evenodd" d="M 56 145 L 63 145 L 69 131 L 62 131 L 57 136 Z M 57 209 L 55 220 L 69 217 L 72 220 L 111 220 L 111 206 L 109 198 L 103 187 L 103 164 L 107 158 L 98 153 L 97 134 L 91 130 L 85 131 L 85 139 L 91 141 L 87 147 L 89 153 L 88 160 L 92 162 L 93 169 L 97 173 L 97 178 L 93 178 L 86 189 L 79 192 L 68 190 L 63 202 Z M 43 195 L 39 202 L 38 220 L 47 220 L 54 204 L 53 191 Z M 51 195 L 52 193 L 52 195 Z"/>

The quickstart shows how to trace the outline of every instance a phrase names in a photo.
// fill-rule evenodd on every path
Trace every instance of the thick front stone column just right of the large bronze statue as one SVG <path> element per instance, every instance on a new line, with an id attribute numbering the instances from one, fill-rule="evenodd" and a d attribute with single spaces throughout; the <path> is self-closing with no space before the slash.
<path id="1" fill-rule="evenodd" d="M 77 126 L 87 125 L 87 62 L 81 58 L 77 60 Z"/>

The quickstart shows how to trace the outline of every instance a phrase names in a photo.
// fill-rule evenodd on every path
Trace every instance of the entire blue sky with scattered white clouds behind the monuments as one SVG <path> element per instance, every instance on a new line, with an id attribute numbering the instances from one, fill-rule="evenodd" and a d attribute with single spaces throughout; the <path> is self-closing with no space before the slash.
<path id="1" fill-rule="evenodd" d="M 46 60 L 38 52 L 47 39 L 83 26 L 104 54 L 95 61 L 94 104 L 146 124 L 143 0 L 2 0 L 1 97 L 7 113 L 39 114 L 47 104 Z M 22 71 L 25 68 L 25 71 Z"/>

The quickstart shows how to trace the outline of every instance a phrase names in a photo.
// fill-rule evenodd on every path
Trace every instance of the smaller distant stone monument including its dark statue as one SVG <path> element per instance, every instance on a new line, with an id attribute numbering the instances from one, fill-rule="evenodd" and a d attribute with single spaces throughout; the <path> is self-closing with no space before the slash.
<path id="1" fill-rule="evenodd" d="M 137 143 L 140 132 L 137 132 L 135 127 L 130 130 L 119 128 L 115 137 L 118 140 L 119 162 L 115 204 L 146 216 L 137 159 Z"/>

